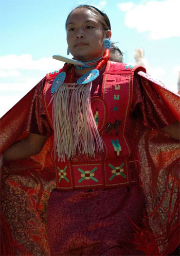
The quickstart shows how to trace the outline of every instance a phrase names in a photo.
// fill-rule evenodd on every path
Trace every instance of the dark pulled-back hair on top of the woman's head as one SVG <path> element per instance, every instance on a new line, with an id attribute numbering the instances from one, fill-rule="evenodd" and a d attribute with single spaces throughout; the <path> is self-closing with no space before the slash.
<path id="1" fill-rule="evenodd" d="M 103 29 L 106 30 L 111 30 L 111 24 L 110 24 L 110 20 L 107 17 L 107 15 L 105 14 L 105 12 L 101 11 L 98 7 L 94 7 L 91 5 L 80 5 L 78 7 L 76 7 L 75 9 L 73 9 L 67 16 L 66 19 L 66 23 L 65 23 L 65 28 L 67 27 L 67 20 L 69 19 L 69 16 L 72 12 L 74 12 L 76 9 L 88 9 L 91 10 L 93 13 L 97 14 L 99 21 L 102 24 Z"/>

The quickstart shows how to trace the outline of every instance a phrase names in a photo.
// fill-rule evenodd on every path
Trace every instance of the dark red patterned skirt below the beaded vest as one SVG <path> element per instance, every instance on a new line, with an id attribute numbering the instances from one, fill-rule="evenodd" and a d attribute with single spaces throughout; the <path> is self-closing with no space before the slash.
<path id="1" fill-rule="evenodd" d="M 117 246 L 118 255 L 136 250 L 133 227 L 142 223 L 145 199 L 138 185 L 116 189 L 53 190 L 48 202 L 47 234 L 51 255 L 101 255 Z M 114 255 L 114 254 L 110 254 Z"/>

